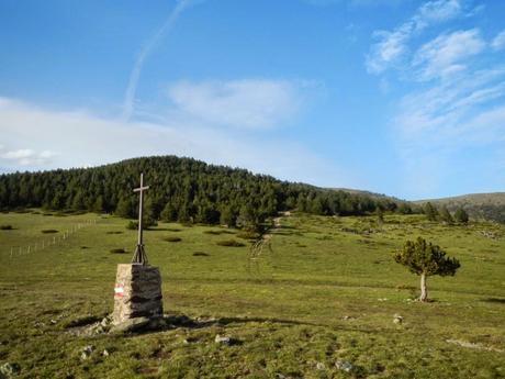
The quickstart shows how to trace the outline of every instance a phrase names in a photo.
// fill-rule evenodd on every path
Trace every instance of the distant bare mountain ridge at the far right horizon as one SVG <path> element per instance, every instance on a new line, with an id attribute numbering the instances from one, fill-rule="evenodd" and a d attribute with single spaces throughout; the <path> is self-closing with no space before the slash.
<path id="1" fill-rule="evenodd" d="M 505 223 L 505 192 L 470 193 L 451 198 L 418 200 L 414 203 L 422 205 L 428 201 L 436 207 L 446 205 L 451 212 L 462 207 L 473 219 Z"/>

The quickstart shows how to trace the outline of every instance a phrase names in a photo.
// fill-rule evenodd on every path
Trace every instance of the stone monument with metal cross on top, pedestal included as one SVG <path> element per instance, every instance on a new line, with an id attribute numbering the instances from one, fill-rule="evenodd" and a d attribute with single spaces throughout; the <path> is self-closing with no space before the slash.
<path id="1" fill-rule="evenodd" d="M 147 264 L 143 243 L 144 174 L 141 174 L 138 204 L 138 241 L 131 264 L 117 265 L 114 288 L 112 324 L 155 320 L 162 316 L 161 276 L 159 269 Z"/>

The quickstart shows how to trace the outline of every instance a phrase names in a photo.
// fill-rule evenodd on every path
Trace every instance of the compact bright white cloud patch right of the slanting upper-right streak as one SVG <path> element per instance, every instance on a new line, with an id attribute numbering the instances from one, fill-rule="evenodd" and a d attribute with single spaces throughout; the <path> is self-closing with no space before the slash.
<path id="1" fill-rule="evenodd" d="M 413 66 L 419 69 L 420 80 L 446 78 L 465 69 L 463 60 L 484 47 L 485 42 L 476 29 L 441 34 L 416 52 Z"/>

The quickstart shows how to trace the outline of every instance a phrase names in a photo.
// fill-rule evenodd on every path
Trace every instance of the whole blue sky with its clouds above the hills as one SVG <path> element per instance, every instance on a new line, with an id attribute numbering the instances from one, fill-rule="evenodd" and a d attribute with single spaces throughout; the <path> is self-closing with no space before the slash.
<path id="1" fill-rule="evenodd" d="M 404 199 L 505 190 L 505 2 L 0 2 L 0 171 L 175 154 Z"/>

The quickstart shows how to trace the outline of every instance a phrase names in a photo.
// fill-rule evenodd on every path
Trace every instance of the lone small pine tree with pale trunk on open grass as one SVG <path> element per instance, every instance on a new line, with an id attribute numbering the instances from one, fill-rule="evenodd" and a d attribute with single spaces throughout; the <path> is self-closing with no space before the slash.
<path id="1" fill-rule="evenodd" d="M 419 301 L 428 301 L 426 279 L 431 275 L 453 276 L 460 267 L 456 258 L 446 257 L 446 253 L 437 245 L 418 237 L 415 242 L 407 241 L 403 249 L 395 252 L 394 260 L 406 266 L 411 272 L 420 276 Z"/>

